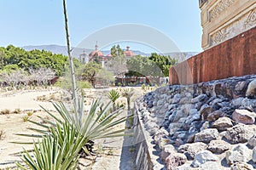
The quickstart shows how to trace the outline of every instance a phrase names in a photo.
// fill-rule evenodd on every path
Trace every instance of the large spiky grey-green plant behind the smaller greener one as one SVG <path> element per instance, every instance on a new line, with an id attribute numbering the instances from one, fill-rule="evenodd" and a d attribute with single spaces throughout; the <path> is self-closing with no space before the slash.
<path id="1" fill-rule="evenodd" d="M 49 121 L 48 119 L 44 119 L 43 117 L 38 116 L 40 119 L 43 120 L 43 122 L 47 122 L 48 124 L 40 124 L 38 122 L 33 122 L 31 120 L 28 120 L 28 122 L 32 122 L 36 125 L 38 125 L 38 128 L 28 128 L 38 134 L 20 134 L 26 137 L 33 137 L 33 138 L 46 138 L 47 136 L 52 136 L 55 138 L 55 136 L 60 136 L 61 130 L 63 130 L 62 139 L 58 139 L 59 144 L 61 147 L 66 148 L 67 150 L 64 150 L 63 153 L 61 153 L 64 156 L 69 156 L 69 149 L 66 146 L 62 146 L 64 137 L 67 136 L 67 133 L 65 131 L 64 125 L 67 126 L 68 124 L 70 127 L 74 128 L 74 133 L 76 136 L 82 136 L 83 138 L 76 139 L 76 142 L 79 142 L 79 144 L 82 144 L 81 148 L 78 148 L 79 151 L 84 150 L 86 155 L 90 155 L 90 148 L 92 141 L 95 139 L 104 139 L 104 138 L 113 138 L 113 137 L 119 137 L 124 136 L 127 134 L 124 134 L 125 128 L 120 130 L 114 130 L 114 127 L 116 125 L 119 125 L 122 122 L 125 122 L 127 120 L 127 116 L 118 117 L 121 114 L 121 110 L 109 112 L 109 105 L 111 102 L 108 103 L 108 105 L 105 105 L 103 108 L 102 103 L 100 99 L 96 99 L 95 102 L 92 103 L 90 107 L 90 111 L 87 114 L 84 114 L 84 99 L 81 99 L 79 102 L 79 107 L 77 109 L 74 109 L 75 113 L 70 113 L 70 111 L 67 110 L 66 106 L 63 103 L 55 104 L 53 103 L 55 110 L 58 112 L 58 114 L 61 116 L 61 118 L 58 118 L 54 114 L 50 113 L 49 111 L 45 110 L 49 116 L 51 116 L 55 121 Z M 41 127 L 41 128 L 39 128 Z M 67 129 L 67 128 L 66 128 Z M 44 140 L 43 140 L 44 142 Z M 20 144 L 19 142 L 15 142 Z M 21 144 L 31 144 L 31 143 L 21 143 Z M 46 146 L 44 146 L 46 147 Z M 36 149 L 32 150 L 35 152 Z M 79 153 L 79 152 L 78 152 Z M 77 154 L 78 155 L 78 154 Z"/>

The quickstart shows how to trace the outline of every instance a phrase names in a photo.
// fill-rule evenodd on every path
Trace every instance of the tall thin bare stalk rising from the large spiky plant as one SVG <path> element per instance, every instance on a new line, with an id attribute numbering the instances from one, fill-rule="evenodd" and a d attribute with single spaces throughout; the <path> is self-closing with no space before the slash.
<path id="1" fill-rule="evenodd" d="M 69 33 L 68 33 L 68 25 L 67 25 L 67 7 L 66 7 L 66 0 L 63 0 L 63 9 L 64 9 L 64 17 L 65 17 L 65 31 L 66 31 L 66 39 L 67 39 L 67 55 L 69 59 L 69 67 L 71 72 L 71 79 L 72 79 L 72 90 L 73 90 L 73 102 L 75 109 L 78 108 L 78 97 L 76 94 L 76 80 L 75 80 L 75 73 L 73 69 L 73 57 L 70 54 L 70 41 L 69 41 Z"/>

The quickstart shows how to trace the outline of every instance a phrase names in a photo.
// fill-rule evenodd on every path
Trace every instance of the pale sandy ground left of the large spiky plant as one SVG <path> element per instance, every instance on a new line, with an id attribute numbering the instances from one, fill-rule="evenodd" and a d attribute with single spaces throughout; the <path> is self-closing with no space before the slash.
<path id="1" fill-rule="evenodd" d="M 20 92 L 17 94 L 2 94 L 0 97 L 0 111 L 8 109 L 9 111 L 15 111 L 20 109 L 20 114 L 7 114 L 0 115 L 0 131 L 3 132 L 3 138 L 0 139 L 0 168 L 13 167 L 14 161 L 20 161 L 19 156 L 12 156 L 12 154 L 22 151 L 23 147 L 26 149 L 31 148 L 29 145 L 24 144 L 12 144 L 11 142 L 23 142 L 29 141 L 26 137 L 15 135 L 15 133 L 32 133 L 27 127 L 33 127 L 31 122 L 24 122 L 27 112 L 34 112 L 29 119 L 33 121 L 40 121 L 37 116 L 47 117 L 42 108 L 42 105 L 47 110 L 53 110 L 53 106 L 50 102 L 39 102 L 35 100 L 38 96 L 47 95 L 55 91 L 43 91 L 43 92 Z"/>

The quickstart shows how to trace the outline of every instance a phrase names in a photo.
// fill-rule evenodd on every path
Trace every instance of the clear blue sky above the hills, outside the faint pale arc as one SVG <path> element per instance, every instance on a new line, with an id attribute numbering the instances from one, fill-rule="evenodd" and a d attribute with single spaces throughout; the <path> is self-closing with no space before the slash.
<path id="1" fill-rule="evenodd" d="M 1 0 L 0 46 L 66 45 L 62 11 L 62 0 Z M 131 23 L 162 32 L 181 51 L 201 52 L 197 0 L 67 0 L 67 13 L 73 47 L 103 28 Z"/>

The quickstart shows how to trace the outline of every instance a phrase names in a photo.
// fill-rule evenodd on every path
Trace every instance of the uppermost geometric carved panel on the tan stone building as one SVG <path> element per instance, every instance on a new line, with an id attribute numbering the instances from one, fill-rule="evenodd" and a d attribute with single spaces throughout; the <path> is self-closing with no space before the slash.
<path id="1" fill-rule="evenodd" d="M 212 10 L 209 11 L 209 19 L 212 21 L 216 17 L 218 17 L 219 14 L 221 14 L 226 8 L 230 7 L 233 3 L 235 3 L 236 0 L 222 0 L 220 1 Z"/>

